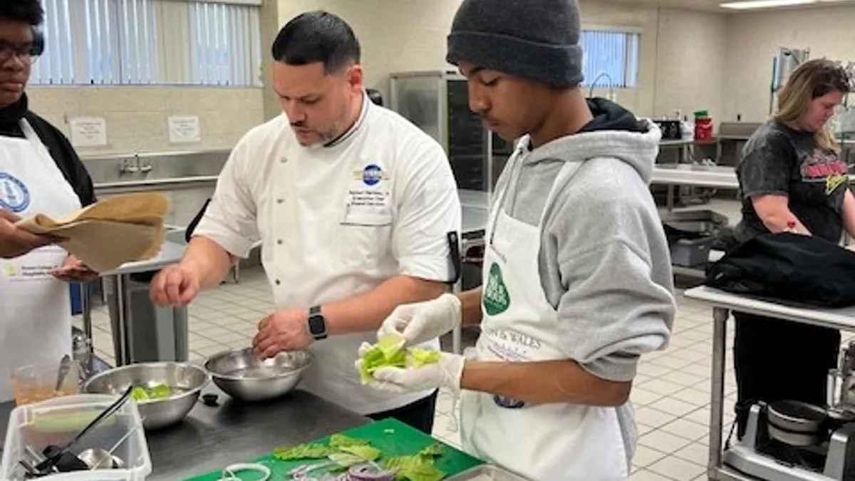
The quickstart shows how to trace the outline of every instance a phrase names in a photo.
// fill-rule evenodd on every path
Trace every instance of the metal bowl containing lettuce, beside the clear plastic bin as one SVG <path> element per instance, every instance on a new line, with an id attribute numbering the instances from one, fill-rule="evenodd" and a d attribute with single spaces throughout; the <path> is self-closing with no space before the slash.
<path id="1" fill-rule="evenodd" d="M 180 362 L 140 363 L 103 371 L 86 381 L 83 391 L 91 394 L 121 394 L 131 385 L 168 385 L 172 389 L 172 395 L 168 398 L 137 401 L 143 427 L 155 430 L 184 419 L 198 401 L 209 379 L 208 373 L 198 365 Z"/>

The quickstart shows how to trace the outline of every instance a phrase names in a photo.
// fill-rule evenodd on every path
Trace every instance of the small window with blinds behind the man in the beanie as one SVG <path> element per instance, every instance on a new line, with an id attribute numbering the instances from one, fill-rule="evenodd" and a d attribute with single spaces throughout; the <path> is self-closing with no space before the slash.
<path id="1" fill-rule="evenodd" d="M 635 88 L 639 77 L 641 35 L 609 28 L 583 29 L 584 86 Z"/>

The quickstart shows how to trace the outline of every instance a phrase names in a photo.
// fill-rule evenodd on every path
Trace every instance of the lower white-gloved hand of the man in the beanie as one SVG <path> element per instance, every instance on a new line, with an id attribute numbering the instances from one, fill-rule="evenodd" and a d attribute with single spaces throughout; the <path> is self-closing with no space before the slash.
<path id="1" fill-rule="evenodd" d="M 357 360 L 357 371 L 363 363 L 362 354 L 364 349 L 370 347 L 363 344 L 359 348 Z M 463 365 L 466 358 L 459 354 L 440 353 L 439 361 L 433 364 L 419 367 L 380 367 L 372 377 L 374 381 L 368 385 L 374 389 L 396 394 L 426 391 L 429 389 L 447 388 L 460 389 L 460 377 L 463 374 Z"/>

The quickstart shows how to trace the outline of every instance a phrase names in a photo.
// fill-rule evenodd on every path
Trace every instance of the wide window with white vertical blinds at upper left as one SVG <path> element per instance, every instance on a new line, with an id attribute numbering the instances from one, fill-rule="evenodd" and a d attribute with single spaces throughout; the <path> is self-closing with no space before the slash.
<path id="1" fill-rule="evenodd" d="M 33 84 L 261 86 L 260 0 L 43 0 Z"/>

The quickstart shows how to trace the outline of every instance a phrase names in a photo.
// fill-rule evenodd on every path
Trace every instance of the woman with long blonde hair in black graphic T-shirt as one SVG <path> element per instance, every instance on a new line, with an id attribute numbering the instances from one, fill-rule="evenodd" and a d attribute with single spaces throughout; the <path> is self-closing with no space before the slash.
<path id="1" fill-rule="evenodd" d="M 851 91 L 852 79 L 835 62 L 811 60 L 796 68 L 777 112 L 748 140 L 736 168 L 742 219 L 735 241 L 785 230 L 835 243 L 844 229 L 855 235 L 846 159 L 827 125 Z M 826 376 L 840 347 L 837 330 L 744 312 L 734 318 L 739 437 L 757 401 L 824 404 Z"/>

